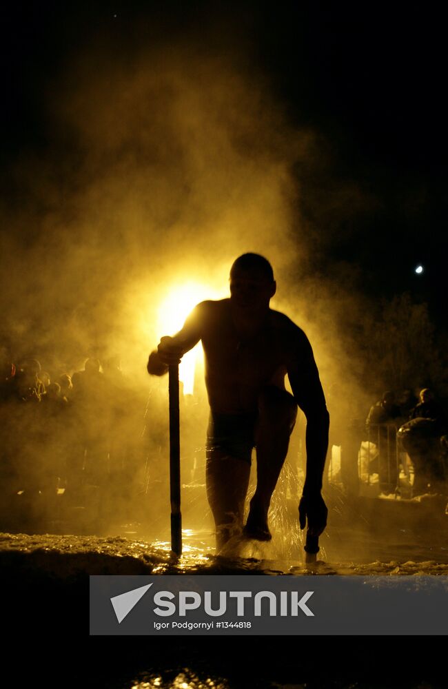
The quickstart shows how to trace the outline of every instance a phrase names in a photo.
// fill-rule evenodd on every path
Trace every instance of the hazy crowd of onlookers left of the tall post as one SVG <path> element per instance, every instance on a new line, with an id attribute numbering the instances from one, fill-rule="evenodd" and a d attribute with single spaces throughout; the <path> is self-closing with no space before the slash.
<path id="1" fill-rule="evenodd" d="M 85 361 L 50 374 L 38 360 L 3 362 L 0 380 L 0 491 L 57 495 L 83 503 L 99 486 L 113 510 L 128 499 L 145 467 L 147 394 L 137 393 L 116 359 Z"/>

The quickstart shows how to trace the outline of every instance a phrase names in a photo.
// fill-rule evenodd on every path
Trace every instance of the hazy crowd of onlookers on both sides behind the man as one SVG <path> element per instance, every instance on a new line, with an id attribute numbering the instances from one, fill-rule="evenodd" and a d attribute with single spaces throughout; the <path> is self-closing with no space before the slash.
<path id="1" fill-rule="evenodd" d="M 181 395 L 184 405 L 188 399 Z M 157 418 L 160 405 L 152 402 L 149 419 L 147 391 L 129 384 L 116 358 L 88 358 L 80 370 L 56 376 L 34 358 L 18 365 L 3 359 L 1 495 L 32 500 L 64 493 L 65 502 L 80 504 L 86 486 L 96 486 L 108 511 L 131 504 L 132 495 L 147 492 L 167 465 L 161 456 L 168 443 L 167 409 Z M 198 435 L 202 438 L 196 407 L 185 407 L 183 416 L 187 482 L 197 475 Z M 431 390 L 422 389 L 418 397 L 410 389 L 398 395 L 386 391 L 366 419 L 363 440 L 378 450 L 369 473 L 378 473 L 380 491 L 396 493 L 399 457 L 407 453 L 414 469 L 413 495 L 446 493 L 447 438 L 447 415 Z"/>

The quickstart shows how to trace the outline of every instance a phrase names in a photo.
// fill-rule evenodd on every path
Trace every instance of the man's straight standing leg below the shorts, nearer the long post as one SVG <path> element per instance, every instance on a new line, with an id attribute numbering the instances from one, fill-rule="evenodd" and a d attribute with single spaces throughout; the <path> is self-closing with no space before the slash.
<path id="1" fill-rule="evenodd" d="M 207 450 L 207 499 L 216 526 L 216 550 L 243 528 L 250 464 L 220 449 Z"/>

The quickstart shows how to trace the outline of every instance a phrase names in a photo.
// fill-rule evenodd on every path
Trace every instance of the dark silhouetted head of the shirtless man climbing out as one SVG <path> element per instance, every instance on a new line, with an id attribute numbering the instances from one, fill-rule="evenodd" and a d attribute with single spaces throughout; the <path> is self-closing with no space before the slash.
<path id="1" fill-rule="evenodd" d="M 230 298 L 238 308 L 266 309 L 275 293 L 274 271 L 266 258 L 243 254 L 234 261 L 230 269 Z"/>

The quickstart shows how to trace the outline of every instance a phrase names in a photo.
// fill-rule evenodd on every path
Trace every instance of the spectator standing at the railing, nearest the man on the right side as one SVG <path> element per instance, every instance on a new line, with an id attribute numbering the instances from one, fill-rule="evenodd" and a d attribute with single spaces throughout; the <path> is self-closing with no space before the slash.
<path id="1" fill-rule="evenodd" d="M 395 403 L 394 392 L 386 391 L 370 408 L 366 425 L 369 440 L 378 446 L 378 467 L 375 462 L 369 471 L 378 468 L 380 491 L 394 493 L 398 482 L 396 431 L 400 426 L 400 407 Z"/>

